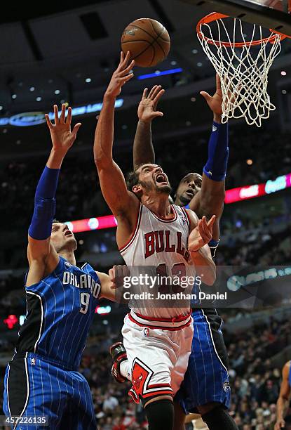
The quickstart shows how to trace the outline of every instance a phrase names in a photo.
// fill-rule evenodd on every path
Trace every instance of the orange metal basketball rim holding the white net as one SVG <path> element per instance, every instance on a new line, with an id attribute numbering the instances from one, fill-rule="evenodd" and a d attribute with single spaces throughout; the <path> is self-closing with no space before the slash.
<path id="1" fill-rule="evenodd" d="M 224 15 L 223 13 L 218 13 L 218 12 L 212 12 L 209 15 L 206 15 L 205 17 L 203 17 L 196 26 L 198 37 L 200 37 L 200 39 L 205 39 L 206 43 L 210 45 L 217 45 L 217 46 L 222 45 L 222 46 L 226 46 L 226 48 L 231 48 L 231 46 L 235 46 L 236 48 L 243 48 L 243 46 L 255 46 L 266 42 L 273 44 L 276 41 L 277 34 L 280 34 L 280 37 L 281 37 L 280 40 L 283 40 L 283 39 L 286 39 L 286 37 L 289 37 L 286 34 L 276 32 L 275 30 L 271 30 L 271 28 L 269 29 L 270 32 L 275 33 L 271 37 L 266 37 L 265 39 L 245 41 L 245 42 L 234 42 L 233 44 L 231 44 L 230 42 L 213 40 L 213 39 L 210 39 L 210 37 L 204 36 L 203 32 L 201 31 L 202 25 L 209 24 L 210 22 L 221 20 L 223 18 L 231 18 L 231 17 L 229 17 L 229 15 Z"/>

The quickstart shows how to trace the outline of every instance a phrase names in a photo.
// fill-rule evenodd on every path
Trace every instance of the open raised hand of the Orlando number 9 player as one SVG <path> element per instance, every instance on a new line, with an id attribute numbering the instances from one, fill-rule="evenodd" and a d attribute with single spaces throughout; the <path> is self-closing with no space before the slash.
<path id="1" fill-rule="evenodd" d="M 66 118 L 65 103 L 62 104 L 60 118 L 57 105 L 53 106 L 53 112 L 55 113 L 55 124 L 50 121 L 48 114 L 45 115 L 46 124 L 48 124 L 48 129 L 50 130 L 53 148 L 57 151 L 64 152 L 65 154 L 76 140 L 76 134 L 81 127 L 81 122 L 78 122 L 71 131 L 72 107 L 68 107 Z"/>

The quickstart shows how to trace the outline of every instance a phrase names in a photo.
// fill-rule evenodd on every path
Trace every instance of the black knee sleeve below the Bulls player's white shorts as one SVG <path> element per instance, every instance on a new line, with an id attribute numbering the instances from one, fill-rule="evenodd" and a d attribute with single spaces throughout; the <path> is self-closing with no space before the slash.
<path id="1" fill-rule="evenodd" d="M 144 405 L 149 422 L 149 430 L 172 430 L 174 425 L 174 405 L 164 396 L 152 398 Z"/>

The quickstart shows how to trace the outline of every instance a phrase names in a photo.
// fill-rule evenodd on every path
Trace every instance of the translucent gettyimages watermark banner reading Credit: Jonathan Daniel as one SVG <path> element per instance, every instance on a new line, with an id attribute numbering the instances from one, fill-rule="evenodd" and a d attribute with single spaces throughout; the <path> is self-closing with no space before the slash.
<path id="1" fill-rule="evenodd" d="M 183 264 L 117 266 L 116 299 L 130 307 L 261 309 L 291 306 L 291 266 L 217 266 L 216 281 Z"/>

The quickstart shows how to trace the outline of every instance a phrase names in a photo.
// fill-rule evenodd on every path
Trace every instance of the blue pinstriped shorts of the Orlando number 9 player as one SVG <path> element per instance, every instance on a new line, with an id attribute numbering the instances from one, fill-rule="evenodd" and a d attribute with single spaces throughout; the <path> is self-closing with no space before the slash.
<path id="1" fill-rule="evenodd" d="M 15 354 L 6 368 L 7 417 L 46 415 L 48 426 L 17 424 L 13 429 L 90 429 L 97 424 L 88 382 L 82 374 L 34 353 Z"/>

